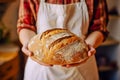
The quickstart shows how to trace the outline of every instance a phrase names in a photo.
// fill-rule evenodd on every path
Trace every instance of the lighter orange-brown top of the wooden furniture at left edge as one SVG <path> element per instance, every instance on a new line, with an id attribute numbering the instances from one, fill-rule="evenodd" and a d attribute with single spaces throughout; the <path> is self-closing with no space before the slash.
<path id="1" fill-rule="evenodd" d="M 0 44 L 0 65 L 14 59 L 18 55 L 19 47 L 12 43 Z"/>

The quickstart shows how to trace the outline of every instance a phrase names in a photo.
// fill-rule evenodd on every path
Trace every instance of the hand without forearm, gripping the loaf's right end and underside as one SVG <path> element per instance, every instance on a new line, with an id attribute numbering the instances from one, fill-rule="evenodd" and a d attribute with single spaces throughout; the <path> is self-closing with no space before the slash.
<path id="1" fill-rule="evenodd" d="M 91 45 L 88 45 L 88 48 L 89 48 L 89 51 L 88 51 L 88 57 L 91 57 L 92 55 L 94 55 L 96 53 L 96 50 L 95 48 L 93 48 Z M 80 62 L 80 63 L 75 63 L 75 64 L 68 64 L 68 65 L 62 65 L 63 67 L 67 67 L 67 68 L 70 68 L 70 67 L 75 67 L 75 66 L 78 66 L 80 64 L 83 64 L 85 63 L 89 58 L 85 59 L 84 61 Z"/>

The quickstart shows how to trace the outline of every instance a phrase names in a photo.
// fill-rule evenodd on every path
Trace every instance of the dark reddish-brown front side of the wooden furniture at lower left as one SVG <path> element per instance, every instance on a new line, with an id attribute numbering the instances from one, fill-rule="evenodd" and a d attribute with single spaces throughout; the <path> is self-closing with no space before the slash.
<path id="1" fill-rule="evenodd" d="M 18 56 L 0 65 L 0 80 L 17 80 L 18 73 L 19 73 Z"/>

